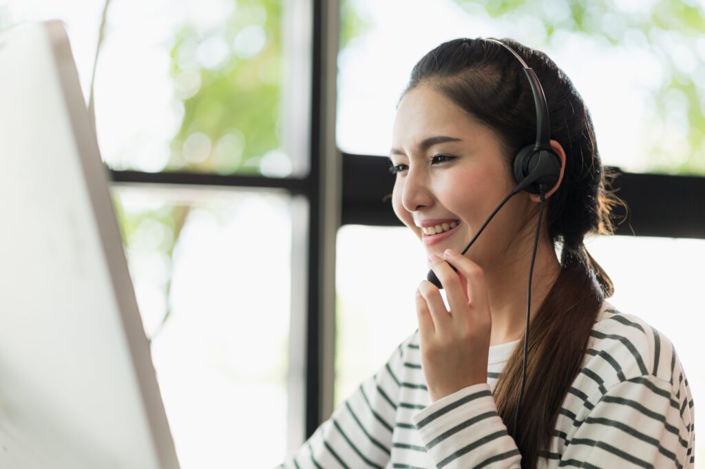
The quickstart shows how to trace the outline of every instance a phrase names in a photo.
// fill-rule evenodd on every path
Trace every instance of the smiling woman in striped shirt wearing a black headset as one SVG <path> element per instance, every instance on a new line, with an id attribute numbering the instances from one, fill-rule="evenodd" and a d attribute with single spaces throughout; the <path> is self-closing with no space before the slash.
<path id="1" fill-rule="evenodd" d="M 513 160 L 537 135 L 534 98 L 517 57 L 490 40 L 455 39 L 417 63 L 393 128 L 393 209 L 423 241 L 449 307 L 422 281 L 419 330 L 286 467 L 693 467 L 675 349 L 605 301 L 612 282 L 583 244 L 611 233 L 617 202 L 587 108 L 545 54 L 503 42 L 545 92 L 556 183 L 511 197 L 460 254 L 517 185 Z"/>

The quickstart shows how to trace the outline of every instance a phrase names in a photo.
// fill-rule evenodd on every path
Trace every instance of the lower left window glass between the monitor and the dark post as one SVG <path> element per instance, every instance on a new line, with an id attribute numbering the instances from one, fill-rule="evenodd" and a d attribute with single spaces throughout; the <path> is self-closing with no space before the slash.
<path id="1" fill-rule="evenodd" d="M 289 198 L 119 187 L 114 200 L 181 467 L 274 467 L 288 425 Z"/>

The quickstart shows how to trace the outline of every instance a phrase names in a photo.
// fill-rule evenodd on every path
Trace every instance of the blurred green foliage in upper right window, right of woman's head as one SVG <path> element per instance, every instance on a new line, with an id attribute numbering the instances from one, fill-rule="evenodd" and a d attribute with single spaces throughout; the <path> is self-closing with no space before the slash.
<path id="1" fill-rule="evenodd" d="M 689 148 L 673 149 L 654 144 L 648 155 L 650 166 L 658 172 L 705 173 L 705 104 L 701 106 L 701 101 L 705 103 L 705 85 L 702 81 L 694 82 L 692 75 L 682 71 L 679 63 L 685 53 L 700 63 L 701 67 L 695 73 L 702 73 L 704 69 L 697 51 L 697 41 L 705 33 L 704 6 L 688 5 L 680 0 L 661 0 L 651 6 L 641 5 L 625 11 L 620 9 L 623 4 L 615 0 L 453 1 L 468 13 L 482 9 L 492 18 L 539 18 L 544 23 L 548 39 L 558 32 L 580 32 L 609 44 L 609 47 L 621 47 L 627 36 L 642 37 L 646 42 L 644 47 L 659 59 L 666 71 L 663 83 L 650 97 L 651 106 L 656 109 L 661 123 L 667 122 L 666 111 L 674 95 L 685 97 L 687 103 L 682 128 L 687 129 Z M 682 53 L 674 54 L 675 48 Z"/>

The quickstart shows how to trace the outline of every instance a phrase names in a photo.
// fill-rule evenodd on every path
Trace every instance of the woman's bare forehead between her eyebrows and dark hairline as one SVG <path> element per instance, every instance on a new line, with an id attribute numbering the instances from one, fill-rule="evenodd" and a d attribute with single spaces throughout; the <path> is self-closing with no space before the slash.
<path id="1" fill-rule="evenodd" d="M 417 149 L 424 140 L 436 135 L 467 140 L 482 132 L 482 127 L 448 97 L 422 85 L 407 92 L 399 103 L 392 147 Z"/>

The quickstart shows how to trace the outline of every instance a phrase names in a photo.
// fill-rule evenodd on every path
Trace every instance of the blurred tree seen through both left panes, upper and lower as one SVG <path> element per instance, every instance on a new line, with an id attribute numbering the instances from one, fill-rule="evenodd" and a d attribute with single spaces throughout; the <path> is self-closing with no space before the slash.
<path id="1" fill-rule="evenodd" d="M 232 4 L 230 15 L 216 28 L 186 23 L 173 38 L 171 76 L 184 113 L 171 142 L 167 171 L 261 173 L 262 159 L 280 146 L 281 84 L 286 79 L 282 1 Z M 192 207 L 165 204 L 127 214 L 117 198 L 115 202 L 125 244 L 132 243 L 145 219 L 153 219 L 171 231 L 159 246 L 171 260 Z M 171 315 L 171 275 L 164 289 L 167 307 L 161 326 Z"/>

